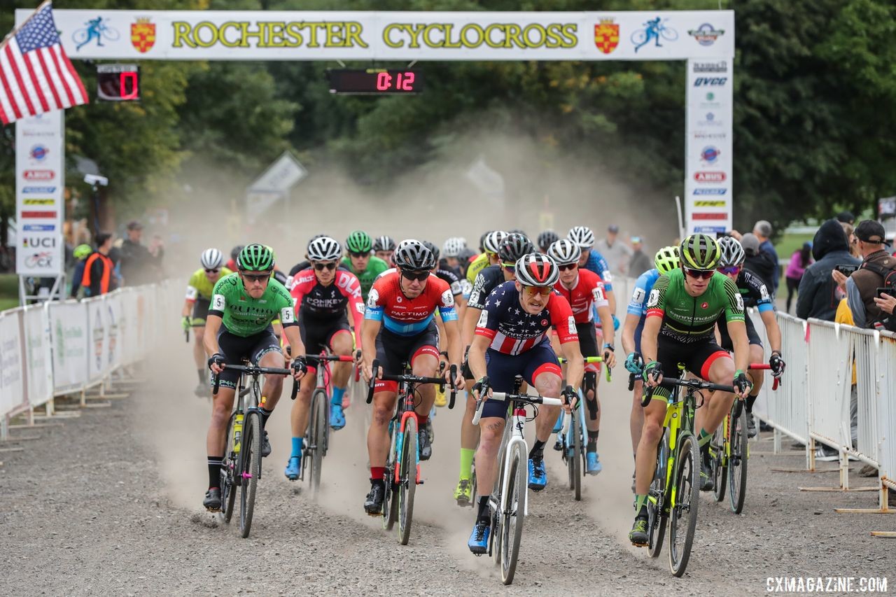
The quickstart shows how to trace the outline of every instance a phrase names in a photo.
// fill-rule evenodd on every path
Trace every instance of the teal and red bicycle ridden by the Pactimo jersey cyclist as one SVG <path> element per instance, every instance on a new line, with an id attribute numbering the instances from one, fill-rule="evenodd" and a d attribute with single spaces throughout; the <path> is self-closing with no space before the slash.
<path id="1" fill-rule="evenodd" d="M 374 376 L 370 378 L 367 389 L 367 403 L 374 400 L 374 386 L 376 384 L 376 372 L 379 371 L 379 360 L 373 362 Z M 418 485 L 423 484 L 420 479 L 420 449 L 418 446 L 419 420 L 414 411 L 417 398 L 417 386 L 421 384 L 445 385 L 444 377 L 423 377 L 410 374 L 407 363 L 402 365 L 404 373 L 400 376 L 383 375 L 384 381 L 398 382 L 398 400 L 395 402 L 395 412 L 389 422 L 389 435 L 392 438 L 392 446 L 389 455 L 386 456 L 385 492 L 383 493 L 383 529 L 391 531 L 392 526 L 398 521 L 398 536 L 401 545 L 407 545 L 410 540 L 410 525 L 414 517 L 414 494 Z M 454 377 L 457 375 L 457 366 L 451 366 L 451 398 L 448 408 L 454 408 L 454 398 L 457 389 L 454 387 Z M 393 493 L 397 494 L 392 495 Z"/>

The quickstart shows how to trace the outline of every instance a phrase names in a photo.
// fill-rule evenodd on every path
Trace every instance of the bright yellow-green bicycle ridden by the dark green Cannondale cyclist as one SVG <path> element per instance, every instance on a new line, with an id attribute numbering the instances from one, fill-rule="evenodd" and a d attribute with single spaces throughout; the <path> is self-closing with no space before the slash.
<path id="1" fill-rule="evenodd" d="M 680 375 L 685 366 L 678 364 Z M 666 522 L 669 525 L 669 569 L 673 575 L 685 574 L 700 505 L 700 446 L 694 436 L 694 415 L 702 406 L 702 390 L 734 392 L 730 385 L 704 382 L 702 379 L 664 377 L 660 385 L 672 390 L 666 405 L 666 428 L 657 449 L 657 468 L 647 496 L 647 546 L 651 558 L 662 549 Z M 679 388 L 685 388 L 684 396 Z M 644 384 L 642 406 L 647 406 L 654 388 Z M 701 403 L 697 404 L 696 394 Z"/>

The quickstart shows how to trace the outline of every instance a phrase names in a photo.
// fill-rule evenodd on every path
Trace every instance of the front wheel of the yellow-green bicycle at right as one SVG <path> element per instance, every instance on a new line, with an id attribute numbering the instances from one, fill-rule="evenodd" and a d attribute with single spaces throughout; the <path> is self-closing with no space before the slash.
<path id="1" fill-rule="evenodd" d="M 669 569 L 673 575 L 680 577 L 685 574 L 688 559 L 691 558 L 700 506 L 700 448 L 697 438 L 691 434 L 682 437 L 678 444 L 674 489 L 676 503 L 671 505 L 669 511 Z M 686 523 L 682 520 L 685 511 Z"/>

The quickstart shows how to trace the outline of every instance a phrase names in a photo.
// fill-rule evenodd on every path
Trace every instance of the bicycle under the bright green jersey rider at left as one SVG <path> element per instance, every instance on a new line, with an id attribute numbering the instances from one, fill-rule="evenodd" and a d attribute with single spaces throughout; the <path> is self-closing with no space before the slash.
<path id="1" fill-rule="evenodd" d="M 249 536 L 252 514 L 255 507 L 255 490 L 262 477 L 262 400 L 260 376 L 291 376 L 290 369 L 258 367 L 254 363 L 246 365 L 226 365 L 225 368 L 241 371 L 237 384 L 237 402 L 230 414 L 227 425 L 227 446 L 224 450 L 224 465 L 221 467 L 221 515 L 229 523 L 239 492 L 239 531 L 243 537 Z M 214 376 L 214 390 L 218 394 L 220 377 Z M 298 382 L 292 384 L 292 398 L 296 398 Z M 248 400 L 246 396 L 248 395 Z M 248 406 L 246 406 L 248 404 Z"/>

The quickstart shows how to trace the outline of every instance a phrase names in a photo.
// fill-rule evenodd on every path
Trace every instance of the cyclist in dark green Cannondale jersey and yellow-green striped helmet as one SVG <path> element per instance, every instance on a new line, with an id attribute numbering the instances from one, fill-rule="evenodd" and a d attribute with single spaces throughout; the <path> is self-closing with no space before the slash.
<path id="1" fill-rule="evenodd" d="M 641 443 L 635 459 L 635 519 L 629 540 L 634 545 L 647 544 L 647 491 L 657 460 L 657 446 L 662 437 L 666 402 L 670 391 L 659 385 L 663 376 L 677 376 L 679 362 L 696 376 L 715 384 L 731 384 L 737 396 L 745 398 L 750 379 L 749 341 L 744 324 L 744 300 L 737 285 L 716 272 L 719 244 L 702 233 L 685 238 L 678 247 L 681 269 L 659 276 L 647 299 L 647 319 L 641 350 L 644 362 L 644 383 L 654 386 L 653 400 L 644 411 Z M 734 343 L 734 360 L 716 343 L 715 325 L 724 314 L 728 333 Z M 714 392 L 706 396 L 697 412 L 694 429 L 701 446 L 701 484 L 712 489 L 709 443 L 712 434 L 734 402 L 734 394 Z"/>

